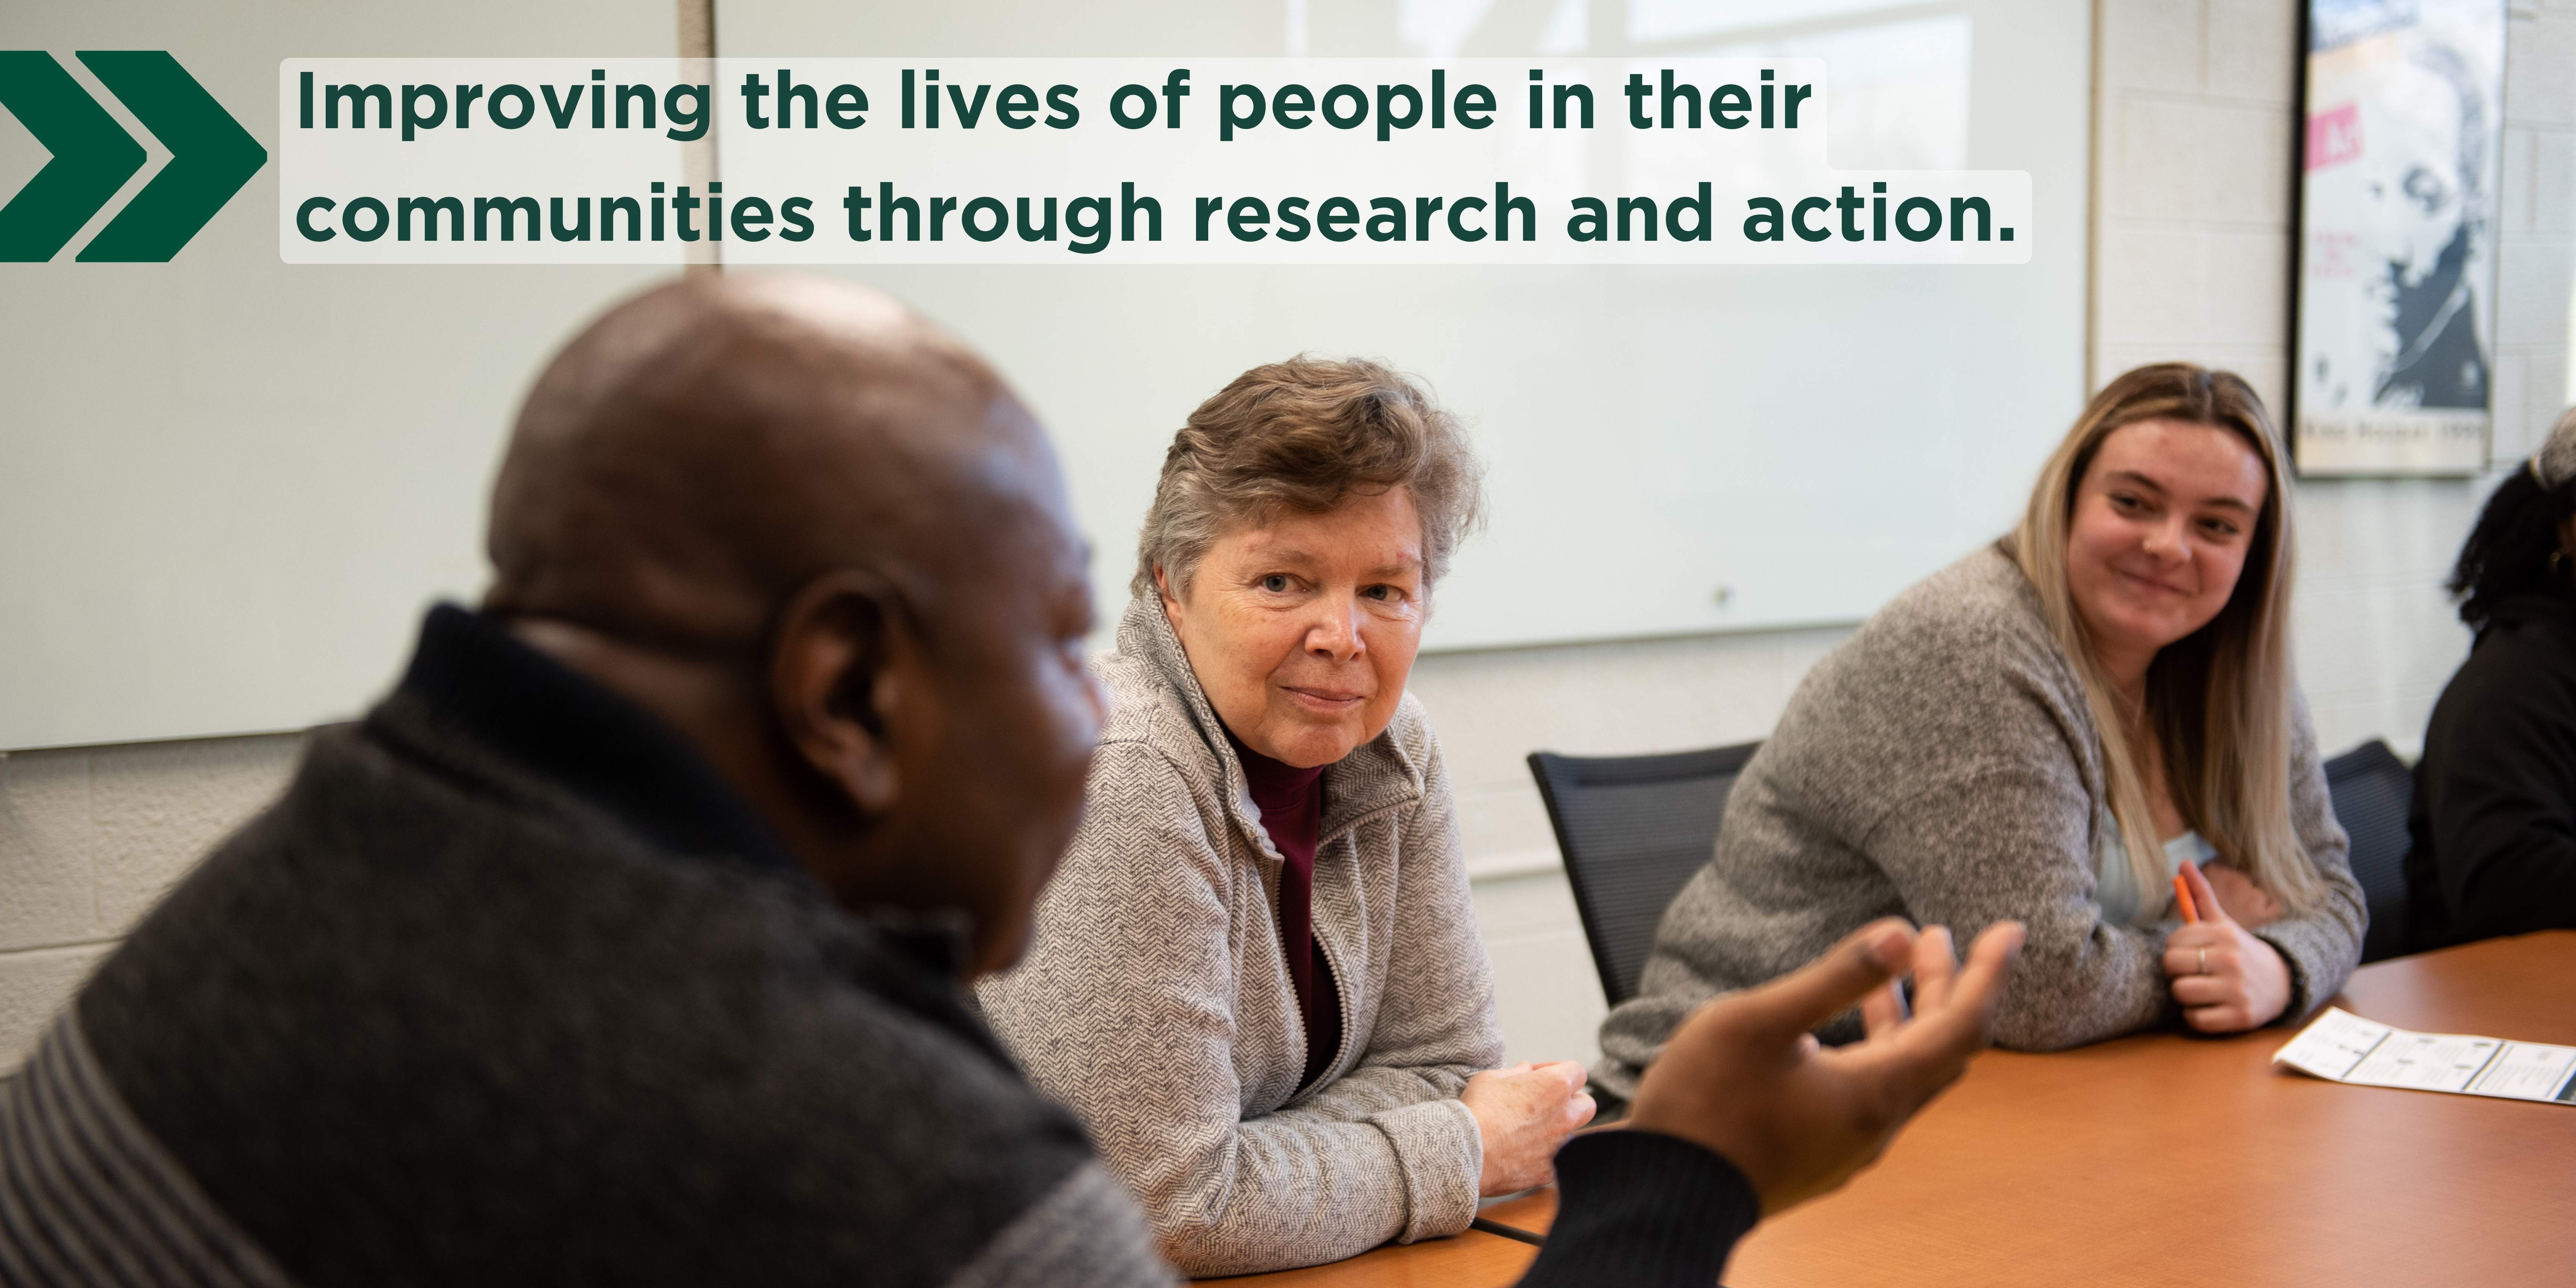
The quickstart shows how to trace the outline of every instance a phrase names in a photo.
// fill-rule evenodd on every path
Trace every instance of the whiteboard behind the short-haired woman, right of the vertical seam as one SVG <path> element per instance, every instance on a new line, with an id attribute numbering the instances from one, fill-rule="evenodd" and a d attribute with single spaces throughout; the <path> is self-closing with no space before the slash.
<path id="1" fill-rule="evenodd" d="M 1172 430 L 1234 374 L 1311 350 L 1425 376 L 1492 471 L 1492 528 L 1427 634 L 1473 649 L 1857 621 L 2012 526 L 2084 402 L 2087 10 L 721 0 L 719 39 L 726 57 L 1824 57 L 1834 165 L 2032 173 L 2020 268 L 850 270 L 971 337 L 1056 430 L 1105 616 Z"/>

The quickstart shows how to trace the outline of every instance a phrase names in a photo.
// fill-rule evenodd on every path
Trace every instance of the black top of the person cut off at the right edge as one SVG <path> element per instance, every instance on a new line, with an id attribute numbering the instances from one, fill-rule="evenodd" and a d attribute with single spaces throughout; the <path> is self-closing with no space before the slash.
<path id="1" fill-rule="evenodd" d="M 2496 605 L 2416 762 L 2416 948 L 2576 927 L 2576 603 Z"/>

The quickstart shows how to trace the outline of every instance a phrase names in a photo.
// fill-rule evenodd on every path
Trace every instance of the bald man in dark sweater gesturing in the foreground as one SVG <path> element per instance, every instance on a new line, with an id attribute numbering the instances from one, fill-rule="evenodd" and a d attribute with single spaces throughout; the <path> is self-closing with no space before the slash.
<path id="1" fill-rule="evenodd" d="M 1020 402 L 881 296 L 696 278 L 554 358 L 489 515 L 484 608 L 0 1087 L 0 1280 L 1170 1283 L 963 987 L 1100 721 Z M 1960 1074 L 2014 948 L 1873 925 L 1703 1010 L 1525 1283 L 1710 1283 Z"/>

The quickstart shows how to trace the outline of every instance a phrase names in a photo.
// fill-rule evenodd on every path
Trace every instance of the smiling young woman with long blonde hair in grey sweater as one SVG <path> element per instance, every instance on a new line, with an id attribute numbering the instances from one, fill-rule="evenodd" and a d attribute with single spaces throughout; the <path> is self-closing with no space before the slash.
<path id="1" fill-rule="evenodd" d="M 2285 502 L 2241 379 L 2161 363 L 2102 389 L 2020 531 L 1798 685 L 1602 1023 L 1595 1082 L 1631 1092 L 1690 1007 L 1886 914 L 2030 925 L 1996 1025 L 2017 1048 L 2233 1033 L 2331 997 L 2362 896 L 2290 683 Z"/>

